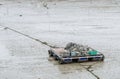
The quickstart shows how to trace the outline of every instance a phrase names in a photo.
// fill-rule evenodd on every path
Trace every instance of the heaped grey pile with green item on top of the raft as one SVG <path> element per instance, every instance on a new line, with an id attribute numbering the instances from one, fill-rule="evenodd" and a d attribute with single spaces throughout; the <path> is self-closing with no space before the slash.
<path id="1" fill-rule="evenodd" d="M 83 46 L 72 42 L 66 45 L 65 50 L 68 50 L 71 56 L 97 55 L 96 50 L 93 50 L 88 46 Z"/>

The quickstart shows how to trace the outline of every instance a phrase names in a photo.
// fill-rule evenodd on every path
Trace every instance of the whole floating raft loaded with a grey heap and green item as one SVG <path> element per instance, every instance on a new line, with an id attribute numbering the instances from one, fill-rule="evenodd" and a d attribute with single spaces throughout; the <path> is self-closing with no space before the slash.
<path id="1" fill-rule="evenodd" d="M 104 55 L 91 47 L 76 43 L 68 43 L 65 48 L 57 47 L 48 50 L 49 56 L 60 64 L 71 62 L 103 61 Z"/>

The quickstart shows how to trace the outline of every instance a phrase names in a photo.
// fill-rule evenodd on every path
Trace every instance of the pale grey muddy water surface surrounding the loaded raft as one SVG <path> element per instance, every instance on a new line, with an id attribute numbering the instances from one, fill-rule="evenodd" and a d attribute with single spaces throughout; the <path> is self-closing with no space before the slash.
<path id="1" fill-rule="evenodd" d="M 48 2 L 49 9 L 37 1 L 1 3 L 0 57 L 5 59 L 0 58 L 0 79 L 96 79 L 86 70 L 89 65 L 100 79 L 120 78 L 119 2 Z M 27 35 L 50 45 L 86 44 L 106 58 L 104 62 L 59 65 L 48 57 L 48 46 Z"/>

